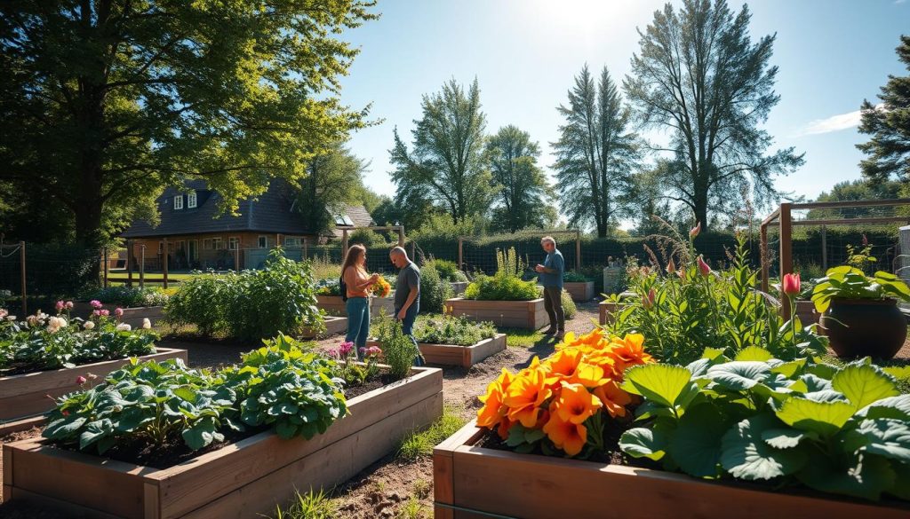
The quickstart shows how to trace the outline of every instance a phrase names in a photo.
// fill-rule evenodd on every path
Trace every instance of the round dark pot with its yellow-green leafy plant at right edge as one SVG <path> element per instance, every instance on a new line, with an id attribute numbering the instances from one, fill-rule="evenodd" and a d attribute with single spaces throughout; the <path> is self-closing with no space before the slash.
<path id="1" fill-rule="evenodd" d="M 820 324 L 842 357 L 895 356 L 907 334 L 898 299 L 910 301 L 910 288 L 895 274 L 868 276 L 849 265 L 828 269 L 812 291 Z"/>

